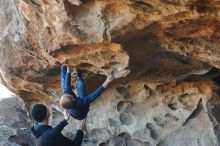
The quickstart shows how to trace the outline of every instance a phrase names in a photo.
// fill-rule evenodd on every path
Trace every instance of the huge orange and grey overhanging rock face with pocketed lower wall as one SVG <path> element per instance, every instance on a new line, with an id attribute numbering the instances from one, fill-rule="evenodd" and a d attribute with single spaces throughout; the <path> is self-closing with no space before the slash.
<path id="1" fill-rule="evenodd" d="M 83 70 L 89 93 L 127 68 L 91 105 L 85 146 L 219 145 L 219 1 L 1 0 L 0 8 L 0 77 L 27 110 L 44 103 L 52 124 L 62 118 L 62 63 Z"/>

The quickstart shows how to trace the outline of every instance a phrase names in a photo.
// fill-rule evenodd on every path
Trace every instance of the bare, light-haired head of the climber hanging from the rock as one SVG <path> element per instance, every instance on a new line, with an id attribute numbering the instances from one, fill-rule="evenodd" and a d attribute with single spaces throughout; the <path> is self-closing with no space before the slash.
<path id="1" fill-rule="evenodd" d="M 75 102 L 75 98 L 70 94 L 64 94 L 60 98 L 60 106 L 65 109 L 70 109 Z"/>

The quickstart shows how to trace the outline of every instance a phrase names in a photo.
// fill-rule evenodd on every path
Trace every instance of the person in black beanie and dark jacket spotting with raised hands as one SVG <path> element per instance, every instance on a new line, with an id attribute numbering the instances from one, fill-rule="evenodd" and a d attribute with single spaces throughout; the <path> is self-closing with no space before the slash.
<path id="1" fill-rule="evenodd" d="M 36 104 L 31 110 L 31 117 L 37 122 L 31 128 L 32 134 L 36 138 L 36 146 L 80 146 L 83 141 L 83 130 L 86 121 L 82 120 L 78 125 L 75 138 L 70 140 L 62 135 L 61 131 L 68 124 L 69 114 L 64 112 L 64 120 L 55 128 L 48 125 L 50 112 L 43 104 Z"/>

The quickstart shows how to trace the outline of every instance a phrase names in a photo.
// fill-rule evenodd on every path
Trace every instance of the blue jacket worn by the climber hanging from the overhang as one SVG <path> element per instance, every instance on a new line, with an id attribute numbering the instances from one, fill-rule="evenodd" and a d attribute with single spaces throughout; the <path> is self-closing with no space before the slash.
<path id="1" fill-rule="evenodd" d="M 65 87 L 64 87 L 64 94 L 71 94 L 74 96 L 74 93 L 72 91 L 71 87 L 71 74 L 66 74 L 66 80 L 65 80 Z M 77 120 L 85 119 L 88 112 L 89 112 L 89 106 L 90 103 L 92 103 L 100 94 L 104 92 L 105 88 L 103 86 L 100 86 L 98 89 L 96 89 L 95 92 L 92 94 L 75 98 L 75 103 L 71 109 L 68 109 L 68 112 L 72 117 L 74 117 Z"/>

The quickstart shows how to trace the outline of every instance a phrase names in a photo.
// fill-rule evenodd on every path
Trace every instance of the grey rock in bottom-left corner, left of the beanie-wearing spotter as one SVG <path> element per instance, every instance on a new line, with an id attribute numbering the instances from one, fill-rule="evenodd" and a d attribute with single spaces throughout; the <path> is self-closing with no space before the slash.
<path id="1" fill-rule="evenodd" d="M 0 95 L 0 145 L 32 146 L 34 139 L 28 126 L 28 117 L 15 96 Z"/>

